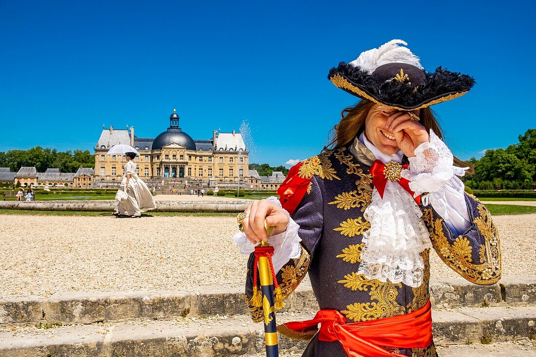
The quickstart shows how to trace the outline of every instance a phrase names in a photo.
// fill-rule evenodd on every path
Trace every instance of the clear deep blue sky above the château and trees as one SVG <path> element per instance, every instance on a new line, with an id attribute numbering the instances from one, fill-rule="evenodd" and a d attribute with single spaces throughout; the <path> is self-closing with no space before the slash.
<path id="1" fill-rule="evenodd" d="M 0 0 L 0 151 L 92 150 L 102 124 L 155 137 L 175 106 L 195 139 L 247 120 L 250 162 L 306 159 L 358 101 L 329 69 L 391 39 L 476 79 L 433 107 L 453 153 L 516 143 L 536 127 L 534 2 L 432 3 Z"/>

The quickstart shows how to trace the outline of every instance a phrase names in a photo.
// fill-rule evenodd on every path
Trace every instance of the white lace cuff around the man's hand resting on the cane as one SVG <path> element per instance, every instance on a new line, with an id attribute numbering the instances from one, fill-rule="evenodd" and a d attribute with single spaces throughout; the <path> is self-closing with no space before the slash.
<path id="1" fill-rule="evenodd" d="M 270 196 L 267 200 L 281 207 L 281 203 L 277 197 Z M 287 264 L 290 259 L 299 258 L 302 253 L 300 246 L 301 238 L 298 236 L 300 225 L 291 218 L 290 214 L 284 208 L 281 207 L 281 209 L 288 216 L 287 229 L 284 232 L 272 235 L 269 239 L 270 244 L 274 248 L 272 264 L 276 272 Z M 255 244 L 251 243 L 242 232 L 236 232 L 233 235 L 233 243 L 236 247 L 240 248 L 242 254 L 249 255 L 255 251 Z"/>

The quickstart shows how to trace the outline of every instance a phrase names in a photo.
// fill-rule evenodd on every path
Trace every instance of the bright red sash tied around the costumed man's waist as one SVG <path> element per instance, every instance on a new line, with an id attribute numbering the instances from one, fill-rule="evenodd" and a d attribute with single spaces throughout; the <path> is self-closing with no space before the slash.
<path id="1" fill-rule="evenodd" d="M 307 321 L 287 322 L 294 332 L 314 332 L 320 325 L 318 339 L 339 341 L 349 357 L 406 357 L 382 347 L 426 348 L 432 343 L 430 301 L 409 314 L 379 318 L 372 321 L 345 323 L 346 317 L 337 310 L 320 310 Z"/>

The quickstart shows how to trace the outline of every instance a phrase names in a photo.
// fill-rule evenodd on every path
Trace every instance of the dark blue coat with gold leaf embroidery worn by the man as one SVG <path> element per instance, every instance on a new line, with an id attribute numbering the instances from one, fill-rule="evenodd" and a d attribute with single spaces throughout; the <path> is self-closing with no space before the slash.
<path id="1" fill-rule="evenodd" d="M 373 192 L 370 165 L 358 160 L 349 147 L 327 151 L 297 165 L 299 170 L 291 169 L 289 175 L 294 173 L 300 179 L 310 179 L 291 216 L 300 225 L 298 234 L 304 249 L 300 258 L 291 259 L 277 274 L 284 298 L 308 272 L 320 309 L 339 310 L 347 322 L 403 315 L 424 306 L 429 299 L 429 250 L 422 253 L 426 270 L 423 284 L 417 288 L 368 280 L 356 273 L 364 244 L 362 234 L 370 227 L 363 217 Z M 433 247 L 445 264 L 476 284 L 494 284 L 501 278 L 497 229 L 477 198 L 466 194 L 465 201 L 472 225 L 459 236 L 431 205 L 421 207 L 423 220 Z M 251 255 L 245 295 L 252 318 L 260 321 L 262 309 L 250 304 L 253 262 Z M 413 351 L 402 349 L 399 353 L 436 355 L 433 345 Z M 318 341 L 316 337 L 304 355 L 346 357 L 339 343 Z"/>

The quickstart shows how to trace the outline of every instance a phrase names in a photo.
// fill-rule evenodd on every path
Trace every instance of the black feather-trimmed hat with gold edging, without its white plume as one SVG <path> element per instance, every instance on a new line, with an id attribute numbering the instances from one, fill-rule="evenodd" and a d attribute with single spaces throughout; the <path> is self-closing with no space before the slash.
<path id="1" fill-rule="evenodd" d="M 362 99 L 399 110 L 414 110 L 458 98 L 475 81 L 468 75 L 438 67 L 428 73 L 406 63 L 388 63 L 369 74 L 340 62 L 327 76 L 334 85 Z"/>

